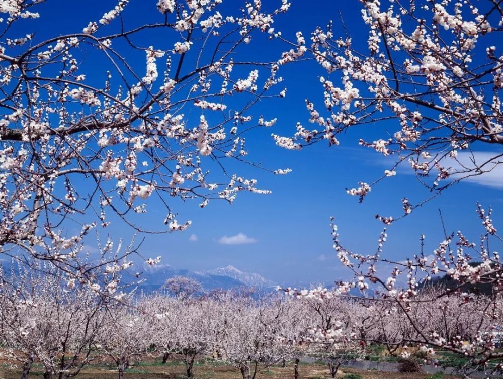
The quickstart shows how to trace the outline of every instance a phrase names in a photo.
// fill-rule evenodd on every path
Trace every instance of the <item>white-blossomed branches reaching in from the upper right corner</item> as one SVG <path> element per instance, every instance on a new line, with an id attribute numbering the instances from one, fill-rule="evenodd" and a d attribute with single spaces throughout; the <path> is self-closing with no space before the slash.
<path id="1" fill-rule="evenodd" d="M 403 165 L 432 196 L 492 171 L 501 154 L 484 152 L 484 145 L 503 143 L 503 57 L 496 46 L 501 5 L 489 0 L 476 6 L 451 0 L 360 3 L 367 46 L 352 39 L 344 21 L 341 35 L 332 23 L 318 27 L 310 45 L 301 34 L 294 42 L 278 37 L 299 51 L 295 59 L 312 57 L 326 76 L 319 77 L 324 104 L 306 99 L 316 129 L 298 123 L 293 137 L 273 134 L 276 143 L 293 150 L 323 140 L 337 146 L 352 127 L 382 125 L 381 138 L 367 141 L 362 134 L 358 142 L 393 162 L 370 184 L 362 181 L 347 190 L 360 202 Z M 402 203 L 400 217 L 423 201 Z M 377 217 L 385 224 L 397 218 Z"/>

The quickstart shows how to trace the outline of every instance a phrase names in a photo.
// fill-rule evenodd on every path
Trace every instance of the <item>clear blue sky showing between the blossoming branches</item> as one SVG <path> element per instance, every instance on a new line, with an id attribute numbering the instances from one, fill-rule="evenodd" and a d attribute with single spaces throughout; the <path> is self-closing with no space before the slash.
<path id="1" fill-rule="evenodd" d="M 155 3 L 155 0 L 131 0 L 125 15 L 158 18 Z M 98 20 L 114 6 L 114 2 L 108 0 L 88 2 L 80 8 L 76 4 L 83 3 L 49 1 L 41 4 L 38 9 L 41 19 L 30 22 L 38 23 L 34 24 L 38 25 L 37 28 L 50 26 L 52 33 L 66 33 L 80 30 L 90 20 Z M 295 32 L 301 30 L 307 39 L 317 25 L 325 26 L 329 19 L 333 19 L 336 35 L 343 34 L 338 21 L 340 11 L 355 43 L 361 43 L 363 48 L 367 31 L 362 27 L 356 5 L 357 2 L 293 0 L 291 10 L 277 19 L 275 28 L 289 39 L 294 39 Z M 43 35 L 47 30 L 40 33 Z M 152 42 L 154 48 L 155 42 Z M 273 47 L 265 51 L 254 48 L 245 54 L 249 57 L 275 54 Z M 131 63 L 144 65 L 144 58 Z M 250 160 L 264 162 L 272 169 L 289 167 L 293 172 L 275 176 L 249 167 L 241 167 L 238 172 L 259 179 L 259 187 L 272 190 L 272 194 L 239 194 L 232 205 L 214 201 L 205 209 L 200 209 L 198 202 L 178 205 L 179 221 L 191 219 L 192 226 L 183 233 L 145 236 L 141 247 L 144 256 L 161 255 L 163 263 L 192 270 L 232 264 L 243 271 L 258 272 L 287 285 L 299 281 L 328 283 L 347 275 L 331 247 L 330 216 L 336 217 L 341 240 L 347 248 L 364 254 L 375 251 L 383 225 L 374 219 L 374 215 L 388 215 L 390 210 L 395 215 L 400 214 L 402 197 L 417 203 L 427 197 L 428 192 L 414 176 L 398 171 L 396 177 L 388 178 L 372 190 L 363 204 L 346 194 L 347 187 L 355 187 L 359 181 L 372 182 L 392 166 L 393 158 L 383 158 L 358 145 L 362 135 L 367 140 L 385 135 L 386 125 L 355 128 L 339 138 L 341 145 L 338 147 L 329 148 L 320 143 L 302 151 L 287 151 L 274 144 L 271 132 L 289 136 L 295 132 L 296 122 L 308 126 L 304 99 L 309 97 L 315 103 L 322 102 L 319 75 L 326 76 L 326 72 L 313 62 L 285 67 L 282 76 L 288 88 L 286 98 L 263 102 L 256 108 L 256 115 L 264 114 L 266 119 L 277 117 L 278 121 L 274 129 L 248 137 Z M 102 77 L 98 79 L 101 81 Z M 461 183 L 415 210 L 411 217 L 394 223 L 388 228 L 384 254 L 403 258 L 418 252 L 421 234 L 427 237 L 427 251 L 433 250 L 443 239 L 439 208 L 449 232 L 461 230 L 476 238 L 483 231 L 475 213 L 477 201 L 486 208 L 493 206 L 493 220 L 497 227 L 499 215 L 503 212 L 503 196 L 497 184 L 497 177 L 491 182 Z M 149 209 L 148 216 L 137 222 L 144 227 L 162 227 L 164 211 L 157 211 L 155 205 Z M 100 233 L 109 233 L 113 240 L 123 237 L 128 241 L 133 232 L 114 220 L 108 230 Z M 222 239 L 225 236 L 227 239 Z M 91 239 L 90 247 L 92 243 Z"/>

